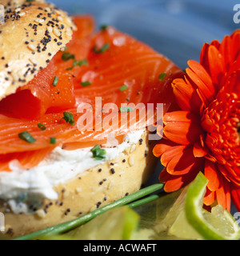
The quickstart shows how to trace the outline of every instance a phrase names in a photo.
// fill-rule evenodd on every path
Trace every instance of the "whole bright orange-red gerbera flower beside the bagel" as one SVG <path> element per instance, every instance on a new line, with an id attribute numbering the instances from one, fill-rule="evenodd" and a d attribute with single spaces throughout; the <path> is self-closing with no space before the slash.
<path id="1" fill-rule="evenodd" d="M 206 43 L 200 63 L 188 65 L 172 84 L 181 110 L 165 114 L 154 147 L 165 166 L 159 179 L 172 192 L 201 170 L 209 180 L 205 205 L 217 200 L 230 210 L 232 199 L 240 211 L 240 30 Z"/>

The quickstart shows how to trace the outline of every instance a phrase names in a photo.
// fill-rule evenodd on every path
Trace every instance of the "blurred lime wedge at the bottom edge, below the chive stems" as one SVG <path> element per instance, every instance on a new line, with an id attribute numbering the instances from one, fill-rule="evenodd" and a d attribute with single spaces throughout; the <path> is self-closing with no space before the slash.
<path id="1" fill-rule="evenodd" d="M 66 234 L 74 240 L 130 240 L 139 216 L 127 206 L 109 210 Z"/>

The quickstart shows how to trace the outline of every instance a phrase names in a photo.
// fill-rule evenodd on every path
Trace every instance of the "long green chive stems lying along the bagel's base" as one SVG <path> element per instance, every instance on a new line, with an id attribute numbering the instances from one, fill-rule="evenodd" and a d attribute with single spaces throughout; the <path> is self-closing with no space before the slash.
<path id="1" fill-rule="evenodd" d="M 124 206 L 124 205 L 130 204 L 130 202 L 133 202 L 132 204 L 129 205 L 131 208 L 140 206 L 142 203 L 151 202 L 154 199 L 157 199 L 158 195 L 151 195 L 148 199 L 144 198 L 142 200 L 139 200 L 139 202 L 134 202 L 134 201 L 138 200 L 139 198 L 143 198 L 148 194 L 152 194 L 158 190 L 161 190 L 162 187 L 163 187 L 162 183 L 148 186 L 142 190 L 138 190 L 137 192 L 134 192 L 133 194 L 127 195 L 124 198 L 121 198 L 115 202 L 112 202 L 107 206 L 103 206 L 102 208 L 94 210 L 94 211 L 90 212 L 89 214 L 85 214 L 82 217 L 76 218 L 73 221 L 61 223 L 56 226 L 51 226 L 44 230 L 38 230 L 32 234 L 26 234 L 25 236 L 22 236 L 20 238 L 14 238 L 13 240 L 30 240 L 30 239 L 34 239 L 34 238 L 40 238 L 43 236 L 61 234 L 63 232 L 72 230 L 86 222 L 89 222 L 91 219 L 93 219 L 93 218 L 97 217 L 98 215 L 105 213 L 107 210 L 111 210 L 115 207 Z"/>

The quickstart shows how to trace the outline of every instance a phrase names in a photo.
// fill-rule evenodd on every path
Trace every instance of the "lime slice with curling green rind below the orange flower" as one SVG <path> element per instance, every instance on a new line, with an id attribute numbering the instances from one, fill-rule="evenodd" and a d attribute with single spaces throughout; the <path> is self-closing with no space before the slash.
<path id="1" fill-rule="evenodd" d="M 199 173 L 190 186 L 180 194 L 166 215 L 168 235 L 186 239 L 236 240 L 240 227 L 232 215 L 217 205 L 208 212 L 202 209 L 206 192 L 206 177 Z"/>

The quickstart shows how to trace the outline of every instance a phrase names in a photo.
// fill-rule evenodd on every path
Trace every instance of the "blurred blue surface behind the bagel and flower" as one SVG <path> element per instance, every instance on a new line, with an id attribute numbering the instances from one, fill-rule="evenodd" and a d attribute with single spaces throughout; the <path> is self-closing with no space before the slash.
<path id="1" fill-rule="evenodd" d="M 50 0 L 70 14 L 92 14 L 97 26 L 115 26 L 165 54 L 182 69 L 199 60 L 204 42 L 222 41 L 240 28 L 234 0 Z M 240 15 L 239 15 L 240 19 Z M 232 207 L 232 214 L 237 210 Z"/>

